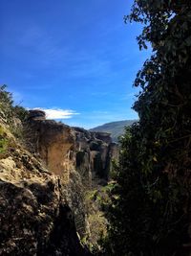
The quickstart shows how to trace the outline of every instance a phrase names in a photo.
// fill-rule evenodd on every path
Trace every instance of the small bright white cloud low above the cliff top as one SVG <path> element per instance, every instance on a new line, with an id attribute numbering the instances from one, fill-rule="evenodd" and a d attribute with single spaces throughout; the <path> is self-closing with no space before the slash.
<path id="1" fill-rule="evenodd" d="M 61 109 L 61 108 L 42 108 L 35 107 L 33 109 L 40 109 L 45 111 L 47 119 L 70 119 L 74 115 L 78 115 L 74 110 L 71 109 Z"/>

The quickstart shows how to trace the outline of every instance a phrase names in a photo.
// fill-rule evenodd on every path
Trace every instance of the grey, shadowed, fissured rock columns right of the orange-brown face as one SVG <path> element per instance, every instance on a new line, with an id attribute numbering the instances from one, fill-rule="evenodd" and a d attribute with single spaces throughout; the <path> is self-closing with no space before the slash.
<path id="1" fill-rule="evenodd" d="M 117 144 L 110 133 L 93 132 L 83 128 L 75 131 L 75 168 L 91 184 L 94 179 L 108 180 L 111 160 L 117 158 Z M 89 179 L 87 176 L 89 175 Z"/>

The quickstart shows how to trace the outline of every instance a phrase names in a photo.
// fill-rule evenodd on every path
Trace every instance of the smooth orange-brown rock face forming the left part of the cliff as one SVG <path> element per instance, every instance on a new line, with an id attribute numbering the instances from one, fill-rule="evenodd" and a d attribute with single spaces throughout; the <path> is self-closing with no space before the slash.
<path id="1" fill-rule="evenodd" d="M 32 145 L 45 165 L 55 175 L 69 181 L 69 171 L 74 169 L 70 151 L 74 146 L 72 129 L 50 120 L 35 119 L 30 122 Z"/>

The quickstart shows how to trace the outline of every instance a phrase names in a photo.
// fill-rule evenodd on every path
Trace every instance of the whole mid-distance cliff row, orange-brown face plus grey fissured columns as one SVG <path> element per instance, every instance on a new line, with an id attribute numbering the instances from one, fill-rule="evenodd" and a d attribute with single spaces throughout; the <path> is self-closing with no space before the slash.
<path id="1" fill-rule="evenodd" d="M 111 160 L 117 158 L 117 144 L 112 143 L 110 134 L 45 120 L 41 112 L 30 111 L 28 125 L 33 151 L 40 155 L 46 167 L 60 175 L 65 184 L 71 181 L 74 171 L 84 184 L 91 185 L 95 177 L 107 181 Z"/>

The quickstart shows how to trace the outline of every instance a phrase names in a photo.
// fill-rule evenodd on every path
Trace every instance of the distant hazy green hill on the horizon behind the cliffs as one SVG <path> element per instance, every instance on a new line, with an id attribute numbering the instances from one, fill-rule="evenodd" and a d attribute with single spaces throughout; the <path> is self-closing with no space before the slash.
<path id="1" fill-rule="evenodd" d="M 112 123 L 107 123 L 102 126 L 91 128 L 92 131 L 103 131 L 111 133 L 113 141 L 117 142 L 118 136 L 122 135 L 125 127 L 129 127 L 138 120 L 123 120 Z"/>

